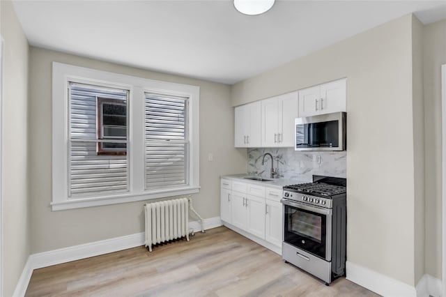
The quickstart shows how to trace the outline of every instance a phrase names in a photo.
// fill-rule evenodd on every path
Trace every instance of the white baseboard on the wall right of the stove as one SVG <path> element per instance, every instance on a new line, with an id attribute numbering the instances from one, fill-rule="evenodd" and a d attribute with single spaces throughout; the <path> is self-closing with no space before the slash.
<path id="1" fill-rule="evenodd" d="M 350 261 L 346 262 L 346 275 L 347 280 L 382 296 L 417 297 L 415 287 Z"/>

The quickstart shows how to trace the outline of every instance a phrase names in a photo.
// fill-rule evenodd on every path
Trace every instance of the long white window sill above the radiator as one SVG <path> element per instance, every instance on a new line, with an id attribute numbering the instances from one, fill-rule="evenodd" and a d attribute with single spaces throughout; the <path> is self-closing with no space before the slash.
<path id="1" fill-rule="evenodd" d="M 164 197 L 175 197 L 180 195 L 195 194 L 200 191 L 200 187 L 178 188 L 175 190 L 159 190 L 153 192 L 126 193 L 108 197 L 93 197 L 82 199 L 67 199 L 66 201 L 56 201 L 51 203 L 52 211 L 64 211 L 67 209 L 86 208 L 93 206 L 104 206 L 121 204 L 134 201 L 144 201 Z"/>

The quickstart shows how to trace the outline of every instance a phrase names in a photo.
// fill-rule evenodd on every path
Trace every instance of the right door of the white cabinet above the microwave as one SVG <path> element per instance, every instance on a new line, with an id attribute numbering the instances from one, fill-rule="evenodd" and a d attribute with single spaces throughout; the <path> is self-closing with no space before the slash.
<path id="1" fill-rule="evenodd" d="M 346 111 L 346 79 L 321 84 L 321 114 Z"/>

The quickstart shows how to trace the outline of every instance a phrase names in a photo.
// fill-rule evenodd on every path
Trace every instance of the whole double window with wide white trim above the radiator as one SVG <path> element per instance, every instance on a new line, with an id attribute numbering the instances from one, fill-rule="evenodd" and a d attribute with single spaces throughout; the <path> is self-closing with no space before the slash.
<path id="1" fill-rule="evenodd" d="M 199 192 L 199 87 L 53 63 L 54 211 Z"/>

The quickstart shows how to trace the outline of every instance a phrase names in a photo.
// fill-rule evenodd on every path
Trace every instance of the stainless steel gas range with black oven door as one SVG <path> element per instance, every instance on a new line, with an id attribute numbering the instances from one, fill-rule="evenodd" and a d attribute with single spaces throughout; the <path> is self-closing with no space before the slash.
<path id="1" fill-rule="evenodd" d="M 313 176 L 283 189 L 282 258 L 325 284 L 345 275 L 346 179 Z"/>

